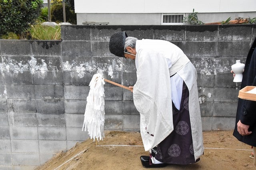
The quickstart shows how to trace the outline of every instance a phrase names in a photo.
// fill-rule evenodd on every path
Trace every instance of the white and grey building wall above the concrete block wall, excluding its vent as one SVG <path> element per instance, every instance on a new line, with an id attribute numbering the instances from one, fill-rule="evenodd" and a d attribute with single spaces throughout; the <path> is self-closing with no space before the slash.
<path id="1" fill-rule="evenodd" d="M 161 25 L 162 14 L 198 12 L 198 20 L 225 21 L 229 17 L 255 18 L 256 0 L 74 0 L 77 24 Z"/>

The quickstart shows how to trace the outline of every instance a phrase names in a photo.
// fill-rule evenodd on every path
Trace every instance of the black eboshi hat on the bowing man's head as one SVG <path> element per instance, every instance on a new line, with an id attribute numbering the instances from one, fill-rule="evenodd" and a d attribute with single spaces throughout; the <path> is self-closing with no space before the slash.
<path id="1" fill-rule="evenodd" d="M 128 36 L 124 31 L 112 34 L 109 40 L 109 51 L 118 57 L 124 57 L 124 43 L 126 37 Z"/>

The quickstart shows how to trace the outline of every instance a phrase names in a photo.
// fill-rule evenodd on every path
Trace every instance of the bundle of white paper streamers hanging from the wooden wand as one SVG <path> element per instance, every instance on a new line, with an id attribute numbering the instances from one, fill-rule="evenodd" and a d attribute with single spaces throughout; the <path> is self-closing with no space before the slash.
<path id="1" fill-rule="evenodd" d="M 103 140 L 104 138 L 104 79 L 100 73 L 94 74 L 90 81 L 90 91 L 86 99 L 86 109 L 84 113 L 84 125 L 82 130 L 88 131 L 93 141 L 95 138 Z"/>

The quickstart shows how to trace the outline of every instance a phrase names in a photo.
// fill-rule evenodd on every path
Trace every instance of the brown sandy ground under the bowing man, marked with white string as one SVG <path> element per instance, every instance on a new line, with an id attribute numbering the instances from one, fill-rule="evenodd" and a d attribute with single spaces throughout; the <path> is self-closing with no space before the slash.
<path id="1" fill-rule="evenodd" d="M 203 132 L 204 155 L 189 165 L 170 164 L 163 170 L 252 170 L 256 169 L 250 146 L 239 142 L 232 131 Z M 130 146 L 106 146 L 130 145 Z M 106 131 L 104 140 L 88 139 L 73 148 L 56 154 L 36 170 L 143 170 L 141 155 L 149 155 L 142 147 L 140 133 Z M 155 169 L 155 168 L 148 168 Z"/>

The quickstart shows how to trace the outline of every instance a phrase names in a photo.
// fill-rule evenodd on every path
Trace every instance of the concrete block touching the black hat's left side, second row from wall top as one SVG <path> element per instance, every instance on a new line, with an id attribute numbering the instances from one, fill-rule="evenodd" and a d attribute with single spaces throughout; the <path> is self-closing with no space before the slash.
<path id="1" fill-rule="evenodd" d="M 92 42 L 92 56 L 111 56 L 109 51 L 109 42 Z"/>

